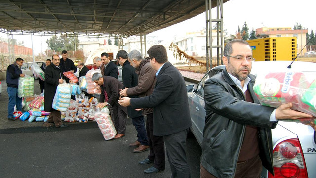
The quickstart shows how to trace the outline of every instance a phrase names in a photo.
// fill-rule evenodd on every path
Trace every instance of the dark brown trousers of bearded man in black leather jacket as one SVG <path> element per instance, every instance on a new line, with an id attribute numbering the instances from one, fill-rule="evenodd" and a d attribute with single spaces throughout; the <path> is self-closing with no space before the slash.
<path id="1" fill-rule="evenodd" d="M 234 178 L 260 178 L 262 163 L 259 155 L 247 161 L 237 163 Z M 200 178 L 216 178 L 201 165 Z"/>

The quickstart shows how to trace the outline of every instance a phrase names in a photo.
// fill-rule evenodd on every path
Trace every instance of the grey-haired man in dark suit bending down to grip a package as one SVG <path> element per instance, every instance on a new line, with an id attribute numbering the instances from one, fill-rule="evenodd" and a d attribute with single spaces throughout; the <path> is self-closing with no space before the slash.
<path id="1" fill-rule="evenodd" d="M 125 136 L 127 108 L 118 104 L 118 93 L 120 89 L 124 88 L 123 84 L 114 77 L 102 76 L 100 73 L 93 74 L 92 80 L 101 87 L 101 95 L 97 107 L 103 108 L 109 104 L 113 107 L 112 120 L 114 121 L 114 126 L 117 130 L 117 135 L 114 139 Z M 104 92 L 107 93 L 107 101 Z"/>

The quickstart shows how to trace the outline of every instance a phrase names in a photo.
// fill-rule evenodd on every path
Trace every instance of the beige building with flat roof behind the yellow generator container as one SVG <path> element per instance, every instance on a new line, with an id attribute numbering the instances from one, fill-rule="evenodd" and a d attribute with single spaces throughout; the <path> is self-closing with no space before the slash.
<path id="1" fill-rule="evenodd" d="M 306 33 L 308 33 L 308 30 L 292 30 L 291 27 L 262 27 L 256 29 L 256 36 L 258 38 L 296 37 L 296 47 L 298 52 L 300 52 L 302 48 L 306 45 Z M 301 55 L 304 55 L 305 52 L 306 48 L 303 49 Z"/>

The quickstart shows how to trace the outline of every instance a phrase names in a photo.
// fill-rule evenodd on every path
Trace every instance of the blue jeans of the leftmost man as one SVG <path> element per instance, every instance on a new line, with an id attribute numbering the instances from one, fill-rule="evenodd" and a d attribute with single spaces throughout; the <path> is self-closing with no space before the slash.
<path id="1" fill-rule="evenodd" d="M 18 89 L 14 87 L 8 87 L 6 89 L 9 95 L 8 103 L 8 118 L 14 117 L 14 106 L 16 106 L 17 111 L 22 111 L 22 98 L 18 97 Z"/>

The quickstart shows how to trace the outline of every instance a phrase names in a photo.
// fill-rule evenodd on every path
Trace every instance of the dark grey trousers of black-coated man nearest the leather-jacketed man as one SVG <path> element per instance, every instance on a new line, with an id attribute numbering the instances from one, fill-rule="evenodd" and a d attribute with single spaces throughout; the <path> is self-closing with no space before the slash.
<path id="1" fill-rule="evenodd" d="M 188 132 L 189 128 L 175 134 L 163 136 L 172 173 L 171 178 L 191 178 L 186 154 Z"/>

